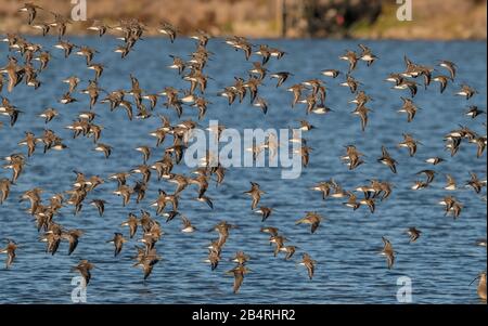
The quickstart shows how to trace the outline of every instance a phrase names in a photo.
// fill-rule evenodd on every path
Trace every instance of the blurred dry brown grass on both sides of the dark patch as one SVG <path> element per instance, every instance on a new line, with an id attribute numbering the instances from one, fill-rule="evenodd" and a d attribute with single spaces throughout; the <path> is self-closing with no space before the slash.
<path id="1" fill-rule="evenodd" d="M 27 0 L 29 1 L 29 0 Z M 30 0 L 49 10 L 69 15 L 70 0 Z M 341 0 L 335 0 L 341 1 Z M 37 34 L 26 14 L 17 9 L 18 0 L 0 0 L 0 32 Z M 167 21 L 182 34 L 196 29 L 213 35 L 278 37 L 275 0 L 87 0 L 88 22 L 76 22 L 68 34 L 86 34 L 92 19 L 116 25 L 120 18 L 137 17 L 150 27 Z M 361 25 L 352 36 L 399 39 L 486 39 L 486 0 L 413 0 L 413 22 L 395 18 L 395 2 L 385 0 L 383 15 L 373 25 Z M 391 4 L 393 3 L 393 4 Z M 50 21 L 48 11 L 40 21 Z M 149 34 L 156 34 L 150 28 Z M 300 35 L 296 35 L 299 37 Z"/>

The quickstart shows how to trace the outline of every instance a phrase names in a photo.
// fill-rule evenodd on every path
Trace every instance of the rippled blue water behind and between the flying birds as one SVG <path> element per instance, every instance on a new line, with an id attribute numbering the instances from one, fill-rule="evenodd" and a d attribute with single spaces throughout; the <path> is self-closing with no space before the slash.
<path id="1" fill-rule="evenodd" d="M 214 199 L 215 209 L 210 210 L 195 197 L 194 186 L 182 194 L 180 211 L 188 216 L 198 227 L 193 234 L 180 232 L 181 222 L 175 219 L 166 224 L 163 218 L 156 218 L 163 225 L 165 236 L 156 244 L 163 256 L 147 279 L 142 282 L 142 272 L 132 268 L 130 258 L 134 255 L 136 239 L 125 244 L 119 257 L 113 257 L 113 246 L 106 244 L 114 232 L 128 230 L 119 226 L 129 212 L 139 213 L 146 209 L 155 217 L 150 203 L 157 197 L 157 190 L 168 193 L 174 184 L 157 182 L 155 173 L 149 185 L 146 198 L 139 205 L 132 198 L 127 207 L 121 199 L 112 194 L 116 182 L 106 181 L 86 199 L 81 213 L 73 216 L 73 207 L 65 207 L 54 220 L 63 226 L 77 227 L 86 232 L 78 248 L 68 257 L 67 245 L 62 243 L 55 256 L 44 252 L 44 244 L 38 242 L 39 234 L 30 216 L 26 212 L 27 203 L 18 203 L 20 195 L 26 190 L 40 186 L 46 190 L 42 198 L 48 200 L 52 194 L 70 188 L 75 179 L 74 169 L 87 175 L 100 174 L 105 178 L 112 173 L 127 171 L 142 164 L 141 155 L 133 148 L 140 145 L 153 146 L 151 162 L 163 156 L 164 146 L 155 148 L 155 139 L 147 133 L 159 126 L 156 115 L 145 120 L 129 121 L 123 109 L 110 113 L 106 104 L 97 104 L 99 115 L 95 123 L 105 126 L 101 142 L 114 146 L 112 156 L 106 160 L 101 153 L 92 152 L 92 139 L 78 138 L 64 129 L 76 119 L 77 113 L 88 109 L 88 95 L 75 94 L 80 102 L 61 105 L 56 100 L 67 91 L 62 79 L 76 74 L 84 89 L 93 71 L 87 70 L 85 58 L 72 55 L 67 60 L 62 51 L 52 48 L 54 38 L 29 38 L 51 50 L 55 56 L 39 79 L 42 86 L 38 90 L 21 84 L 11 93 L 4 88 L 2 95 L 24 110 L 14 128 L 8 125 L 8 117 L 0 116 L 4 122 L 0 129 L 0 156 L 11 153 L 26 153 L 26 147 L 17 146 L 25 131 L 41 135 L 44 122 L 37 115 L 46 107 L 53 106 L 61 115 L 47 127 L 64 139 L 69 147 L 63 152 L 50 151 L 42 154 L 38 146 L 28 159 L 25 172 L 12 187 L 10 198 L 0 206 L 0 238 L 14 238 L 18 244 L 17 258 L 11 270 L 0 270 L 0 302 L 2 303 L 70 303 L 73 286 L 70 281 L 77 274 L 70 268 L 80 259 L 88 259 L 99 269 L 93 270 L 88 287 L 89 303 L 396 303 L 399 288 L 397 278 L 408 276 L 412 282 L 414 303 L 479 303 L 476 286 L 470 282 L 486 270 L 486 248 L 475 245 L 477 238 L 486 238 L 486 201 L 475 195 L 473 190 L 463 188 L 449 194 L 454 195 L 464 209 L 459 220 L 444 216 L 444 209 L 437 204 L 445 195 L 445 173 L 451 173 L 460 185 L 468 180 L 468 171 L 477 172 L 486 179 L 486 153 L 476 158 L 476 146 L 463 142 L 454 157 L 444 151 L 444 135 L 458 128 L 468 126 L 479 134 L 486 134 L 483 121 L 486 116 L 475 120 L 463 115 L 468 104 L 486 109 L 487 65 L 486 42 L 423 42 L 423 41 L 367 41 L 380 56 L 371 67 L 363 62 L 358 64 L 354 76 L 363 82 L 363 89 L 374 101 L 369 107 L 370 121 L 365 132 L 360 131 L 359 118 L 351 115 L 354 109 L 347 101 L 352 99 L 347 88 L 339 87 L 344 75 L 337 79 L 320 75 L 324 68 L 347 70 L 347 63 L 337 57 L 345 49 L 357 50 L 356 41 L 326 40 L 254 40 L 255 43 L 269 42 L 287 54 L 280 61 L 271 58 L 270 71 L 287 70 L 292 76 L 284 86 L 291 86 L 310 78 L 326 81 L 326 103 L 334 109 L 325 116 L 305 116 L 304 105 L 291 109 L 291 93 L 285 88 L 277 89 L 275 80 L 265 81 L 259 89 L 261 96 L 269 102 L 265 116 L 252 107 L 248 100 L 231 107 L 227 100 L 216 96 L 226 86 L 233 83 L 234 76 L 246 78 L 251 63 L 245 62 L 242 52 L 234 52 L 220 39 L 213 39 L 208 49 L 215 53 L 205 71 L 214 77 L 208 82 L 206 97 L 213 102 L 201 126 L 207 126 L 209 119 L 218 119 L 228 128 L 286 128 L 297 126 L 297 119 L 307 118 L 317 129 L 305 134 L 313 148 L 310 165 L 304 169 L 297 180 L 282 180 L 279 168 L 234 168 L 230 169 L 221 186 L 210 184 L 207 195 Z M 100 86 L 105 90 L 130 89 L 129 74 L 139 79 L 141 87 L 149 93 L 163 88 L 188 88 L 175 70 L 166 68 L 171 63 L 168 54 L 187 57 L 194 49 L 194 42 L 177 39 L 170 44 L 166 39 L 146 38 L 136 44 L 136 49 L 125 60 L 120 60 L 112 50 L 117 41 L 112 37 L 70 38 L 76 44 L 94 47 L 100 53 L 93 62 L 107 65 Z M 0 44 L 1 65 L 7 62 L 7 43 Z M 411 123 L 407 117 L 398 114 L 401 106 L 400 95 L 407 91 L 391 90 L 390 84 L 382 80 L 393 71 L 403 69 L 403 54 L 415 63 L 434 65 L 436 60 L 446 58 L 459 65 L 455 84 L 449 84 L 444 94 L 439 94 L 438 83 L 428 90 L 419 90 L 414 102 L 422 107 Z M 254 60 L 259 57 L 254 56 Z M 447 74 L 441 67 L 438 71 Z M 459 84 L 466 82 L 476 88 L 479 94 L 466 101 L 453 93 Z M 103 95 L 103 94 L 102 94 Z M 127 99 L 131 100 L 128 95 Z M 171 123 L 178 121 L 174 110 L 167 110 L 159 99 L 156 112 L 168 115 Z M 197 119 L 196 109 L 185 108 L 181 119 Z M 410 132 L 421 140 L 423 145 L 412 158 L 404 148 L 396 144 L 402 140 L 402 132 Z M 171 138 L 165 142 L 169 146 Z M 338 159 L 344 154 L 344 145 L 355 144 L 365 153 L 365 164 L 354 171 Z M 385 144 L 391 156 L 398 161 L 398 174 L 376 162 L 381 155 L 381 145 Z M 445 164 L 429 166 L 424 159 L 441 156 Z M 410 186 L 419 179 L 414 173 L 432 168 L 438 172 L 431 187 L 411 191 Z M 174 172 L 190 173 L 190 169 L 177 166 Z M 10 170 L 0 170 L 0 178 L 10 178 Z M 129 184 L 140 175 L 129 179 Z M 309 191 L 319 181 L 334 178 L 346 190 L 354 190 L 368 183 L 370 179 L 387 180 L 395 184 L 389 199 L 377 204 L 374 214 L 365 207 L 352 211 L 342 205 L 343 199 L 321 199 L 320 193 Z M 251 199 L 243 195 L 249 188 L 249 181 L 258 182 L 267 192 L 261 205 L 273 207 L 275 212 L 266 221 L 251 211 Z M 486 188 L 483 191 L 486 196 Z M 88 205 L 92 198 L 107 201 L 103 218 L 97 209 Z M 306 211 L 318 211 L 328 218 L 314 234 L 306 225 L 295 225 L 295 221 Z M 222 261 L 215 271 L 203 262 L 206 258 L 206 245 L 217 236 L 207 232 L 221 220 L 237 224 L 232 230 L 223 247 Z M 292 261 L 283 256 L 274 258 L 272 247 L 268 245 L 268 235 L 259 233 L 264 225 L 277 226 L 288 238 L 288 245 L 299 247 Z M 416 226 L 423 233 L 414 244 L 409 244 L 406 229 Z M 391 271 L 386 261 L 377 255 L 382 248 L 382 236 L 388 237 L 397 253 Z M 228 261 L 236 250 L 244 250 L 252 257 L 247 274 L 237 295 L 232 294 L 231 276 L 224 274 L 233 266 Z M 308 252 L 318 261 L 312 281 L 308 279 L 303 266 L 297 266 L 301 253 Z M 4 257 L 3 257 L 4 258 Z M 2 259 L 3 259 L 2 258 Z"/>

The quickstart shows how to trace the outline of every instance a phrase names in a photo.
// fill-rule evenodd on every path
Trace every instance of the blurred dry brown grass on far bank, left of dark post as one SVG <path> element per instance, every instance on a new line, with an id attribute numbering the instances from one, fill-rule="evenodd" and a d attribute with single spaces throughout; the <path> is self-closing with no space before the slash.
<path id="1" fill-rule="evenodd" d="M 48 11 L 69 15 L 69 0 L 33 1 L 46 9 L 39 11 L 39 21 L 50 21 Z M 0 30 L 33 32 L 27 26 L 27 15 L 18 13 L 22 1 L 0 0 Z M 115 25 L 120 18 L 137 17 L 147 26 L 157 26 L 167 21 L 178 26 L 182 34 L 204 29 L 215 35 L 233 32 L 255 36 L 277 36 L 274 24 L 274 1 L 270 0 L 87 0 L 88 22 L 76 22 L 69 34 L 85 34 L 92 19 L 103 19 Z M 150 29 L 149 34 L 155 34 Z"/>

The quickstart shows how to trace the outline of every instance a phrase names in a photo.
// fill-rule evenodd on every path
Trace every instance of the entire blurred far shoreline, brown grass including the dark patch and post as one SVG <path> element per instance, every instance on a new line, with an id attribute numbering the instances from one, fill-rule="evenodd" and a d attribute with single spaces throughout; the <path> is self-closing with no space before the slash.
<path id="1" fill-rule="evenodd" d="M 37 35 L 17 12 L 25 1 L 0 0 L 0 32 Z M 69 16 L 70 0 L 38 0 L 38 22 L 50 11 Z M 74 22 L 68 35 L 90 35 L 93 19 L 116 26 L 138 18 L 158 35 L 162 21 L 182 35 L 197 29 L 213 36 L 249 38 L 358 38 L 402 40 L 486 40 L 486 0 L 412 0 L 413 21 L 400 22 L 395 0 L 87 0 L 87 21 Z"/>

